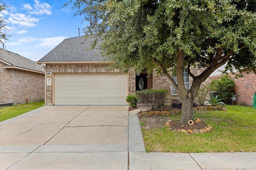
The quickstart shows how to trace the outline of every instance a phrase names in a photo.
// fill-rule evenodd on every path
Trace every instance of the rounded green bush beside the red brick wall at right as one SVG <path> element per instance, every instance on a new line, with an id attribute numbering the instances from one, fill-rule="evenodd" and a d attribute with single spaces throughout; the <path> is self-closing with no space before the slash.
<path id="1" fill-rule="evenodd" d="M 219 98 L 222 98 L 227 104 L 232 102 L 230 98 L 235 94 L 234 88 L 235 82 L 228 75 L 212 80 L 210 84 L 210 90 L 215 92 L 215 94 L 218 95 Z"/>

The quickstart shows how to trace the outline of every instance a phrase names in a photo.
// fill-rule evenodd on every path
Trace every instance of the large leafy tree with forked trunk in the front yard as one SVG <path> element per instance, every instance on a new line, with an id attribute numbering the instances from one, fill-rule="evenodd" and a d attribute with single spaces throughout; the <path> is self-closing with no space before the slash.
<path id="1" fill-rule="evenodd" d="M 217 68 L 256 72 L 255 0 L 71 0 L 90 25 L 113 68 L 164 74 L 182 100 L 182 122 L 193 119 L 200 84 Z M 200 75 L 192 67 L 205 68 Z M 193 78 L 184 86 L 183 68 Z M 172 79 L 174 69 L 177 84 Z"/>

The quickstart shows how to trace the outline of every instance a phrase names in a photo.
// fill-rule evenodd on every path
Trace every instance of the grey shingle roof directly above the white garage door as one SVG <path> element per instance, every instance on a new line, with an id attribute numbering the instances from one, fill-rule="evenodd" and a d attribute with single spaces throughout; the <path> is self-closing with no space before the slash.
<path id="1" fill-rule="evenodd" d="M 103 61 L 99 49 L 88 50 L 90 42 L 83 36 L 64 39 L 38 62 Z"/>

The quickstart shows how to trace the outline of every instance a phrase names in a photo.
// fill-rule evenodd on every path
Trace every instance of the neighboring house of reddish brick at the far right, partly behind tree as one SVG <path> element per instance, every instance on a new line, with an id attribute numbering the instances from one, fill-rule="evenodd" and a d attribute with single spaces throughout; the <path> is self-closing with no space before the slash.
<path id="1" fill-rule="evenodd" d="M 221 66 L 217 70 L 215 70 L 210 75 L 210 80 L 216 79 L 222 76 L 220 71 L 224 70 L 226 65 Z M 236 72 L 236 70 L 234 70 Z M 247 74 L 246 72 L 242 73 L 243 76 L 241 78 L 234 78 L 233 74 L 230 74 L 232 78 L 234 78 L 235 82 L 235 91 L 239 96 L 236 97 L 236 101 L 234 104 L 243 105 L 243 106 L 252 106 L 252 100 L 254 97 L 254 92 L 256 92 L 256 74 L 254 72 L 250 72 Z"/>

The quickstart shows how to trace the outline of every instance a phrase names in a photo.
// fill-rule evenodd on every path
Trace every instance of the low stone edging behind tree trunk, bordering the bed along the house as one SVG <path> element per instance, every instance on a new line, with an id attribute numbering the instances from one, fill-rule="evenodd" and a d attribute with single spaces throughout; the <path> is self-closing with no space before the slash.
<path id="1" fill-rule="evenodd" d="M 194 111 L 205 111 L 205 110 L 222 110 L 227 111 L 226 107 L 216 107 L 216 106 L 199 106 L 193 107 Z M 166 116 L 169 115 L 178 115 L 181 113 L 181 109 L 171 110 L 171 111 L 149 111 L 149 112 L 142 112 L 138 114 L 138 117 L 158 117 L 158 116 Z"/>

